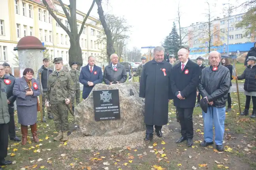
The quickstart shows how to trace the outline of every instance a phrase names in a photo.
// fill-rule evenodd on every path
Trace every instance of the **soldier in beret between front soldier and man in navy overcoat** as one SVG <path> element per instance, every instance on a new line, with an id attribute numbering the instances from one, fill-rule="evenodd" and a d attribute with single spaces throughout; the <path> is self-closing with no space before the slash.
<path id="1" fill-rule="evenodd" d="M 77 62 L 73 62 L 71 64 L 71 70 L 69 71 L 70 76 L 72 77 L 72 80 L 74 82 L 75 87 L 75 96 L 71 99 L 72 103 L 72 110 L 74 111 L 75 103 L 78 105 L 80 103 L 80 84 L 79 84 L 79 76 L 80 72 L 77 70 Z"/>

